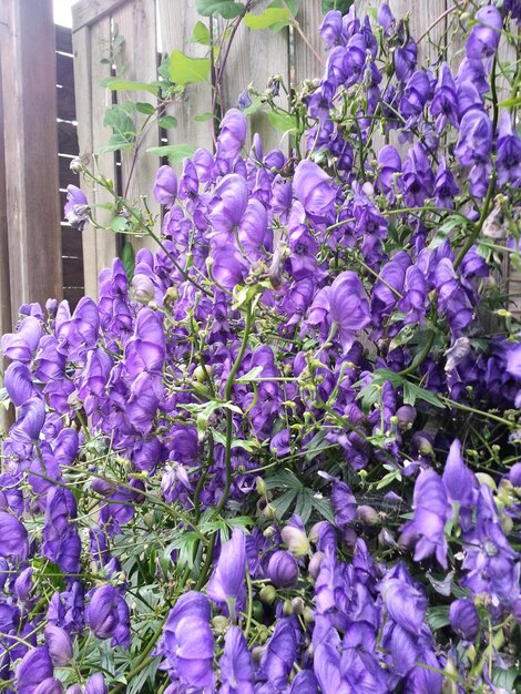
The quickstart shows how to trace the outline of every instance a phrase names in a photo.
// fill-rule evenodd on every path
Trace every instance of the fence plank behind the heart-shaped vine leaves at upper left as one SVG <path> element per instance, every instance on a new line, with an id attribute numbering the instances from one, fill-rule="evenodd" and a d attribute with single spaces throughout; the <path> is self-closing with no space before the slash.
<path id="1" fill-rule="evenodd" d="M 132 0 L 121 6 L 113 14 L 112 20 L 118 27 L 119 34 L 124 43 L 116 57 L 116 74 L 125 80 L 139 82 L 153 82 L 157 79 L 157 41 L 155 2 L 151 0 Z M 153 105 L 156 100 L 147 92 L 118 92 L 118 102 L 149 102 Z M 144 116 L 137 115 L 142 123 Z M 147 205 L 151 212 L 159 216 L 160 207 L 152 194 L 152 186 L 160 162 L 157 156 L 147 153 L 146 150 L 159 144 L 159 127 L 152 119 L 139 135 L 137 150 L 135 152 L 122 152 L 121 174 L 123 197 L 139 204 L 140 195 L 147 196 Z M 135 159 L 135 161 L 134 161 Z M 156 232 L 159 232 L 159 222 Z M 146 245 L 153 249 L 155 244 L 151 237 L 132 238 L 134 251 Z"/>

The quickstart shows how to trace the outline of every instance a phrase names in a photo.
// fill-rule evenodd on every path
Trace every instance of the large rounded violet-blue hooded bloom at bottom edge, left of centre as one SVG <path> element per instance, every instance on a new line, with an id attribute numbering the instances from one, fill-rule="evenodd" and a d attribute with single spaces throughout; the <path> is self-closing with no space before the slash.
<path id="1" fill-rule="evenodd" d="M 214 686 L 214 639 L 210 616 L 210 602 L 204 595 L 195 591 L 185 593 L 166 620 L 159 647 L 167 660 L 174 682 L 208 693 Z"/>

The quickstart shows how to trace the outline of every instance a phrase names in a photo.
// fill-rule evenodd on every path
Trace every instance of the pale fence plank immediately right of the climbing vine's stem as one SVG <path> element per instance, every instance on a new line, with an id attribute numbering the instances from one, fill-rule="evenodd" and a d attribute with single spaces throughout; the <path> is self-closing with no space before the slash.
<path id="1" fill-rule="evenodd" d="M 253 3 L 255 14 L 263 12 L 269 4 L 268 0 L 257 0 Z M 224 23 L 221 22 L 221 27 Z M 257 92 L 264 92 L 270 76 L 280 74 L 284 82 L 289 84 L 289 44 L 288 30 L 283 29 L 275 33 L 269 29 L 248 29 L 242 23 L 236 32 L 223 79 L 224 111 L 236 106 L 241 93 L 252 84 Z M 283 108 L 287 108 L 287 99 L 280 90 L 276 100 Z M 252 139 L 258 132 L 263 139 L 264 152 L 275 147 L 288 151 L 288 139 L 282 132 L 272 127 L 267 114 L 258 112 L 249 120 Z"/>

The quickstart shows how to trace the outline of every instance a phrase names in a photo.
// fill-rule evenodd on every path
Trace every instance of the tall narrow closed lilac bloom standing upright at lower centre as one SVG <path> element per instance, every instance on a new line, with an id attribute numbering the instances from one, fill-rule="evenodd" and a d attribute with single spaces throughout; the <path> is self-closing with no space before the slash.
<path id="1" fill-rule="evenodd" d="M 239 528 L 234 528 L 232 538 L 221 549 L 217 567 L 206 589 L 214 602 L 228 605 L 232 619 L 235 603 L 244 593 L 245 572 L 246 537 Z"/>

